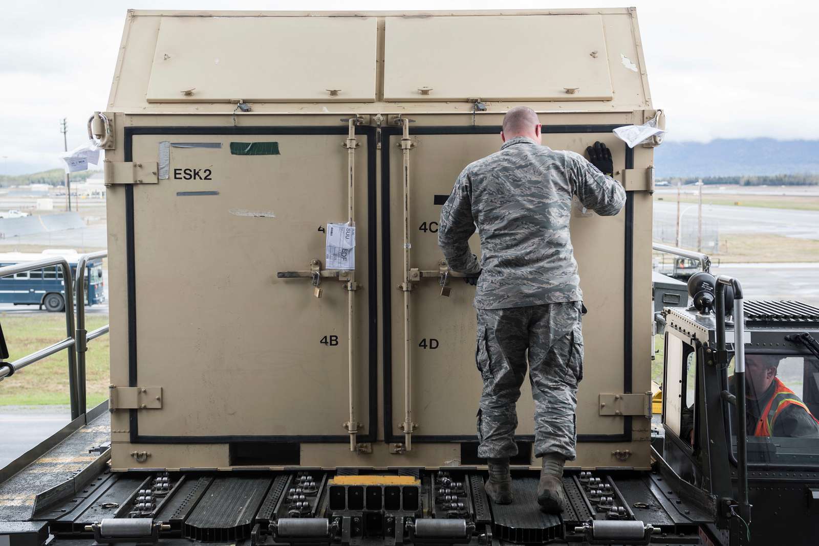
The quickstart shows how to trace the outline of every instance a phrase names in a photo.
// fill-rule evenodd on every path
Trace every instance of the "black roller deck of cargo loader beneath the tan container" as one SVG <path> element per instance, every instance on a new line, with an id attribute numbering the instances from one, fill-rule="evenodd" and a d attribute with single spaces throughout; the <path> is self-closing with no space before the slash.
<path id="1" fill-rule="evenodd" d="M 540 511 L 528 468 L 506 506 L 487 499 L 479 467 L 111 472 L 107 450 L 88 453 L 106 427 L 103 414 L 0 484 L 10 546 L 696 544 L 707 522 L 650 472 L 567 472 L 562 517 Z"/>

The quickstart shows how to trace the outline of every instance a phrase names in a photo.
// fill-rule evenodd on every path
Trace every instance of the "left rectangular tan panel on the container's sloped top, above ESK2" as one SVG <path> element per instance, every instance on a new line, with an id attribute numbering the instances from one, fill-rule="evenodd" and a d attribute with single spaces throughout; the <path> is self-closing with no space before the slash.
<path id="1" fill-rule="evenodd" d="M 374 101 L 375 54 L 374 17 L 162 17 L 147 101 Z"/>

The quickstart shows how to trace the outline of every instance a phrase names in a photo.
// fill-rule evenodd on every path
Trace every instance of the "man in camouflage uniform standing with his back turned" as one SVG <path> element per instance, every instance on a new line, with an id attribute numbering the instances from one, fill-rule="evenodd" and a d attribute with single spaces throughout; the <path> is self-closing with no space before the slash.
<path id="1" fill-rule="evenodd" d="M 541 145 L 535 112 L 505 115 L 500 151 L 470 163 L 441 209 L 438 244 L 451 269 L 477 276 L 478 455 L 488 459 L 486 492 L 512 502 L 509 457 L 518 425 L 515 402 L 526 375 L 535 401 L 535 454 L 542 458 L 538 502 L 563 510 L 563 463 L 575 458 L 577 383 L 583 337 L 577 262 L 569 237 L 572 196 L 602 216 L 620 212 L 626 192 L 611 175 L 611 152 Z M 480 262 L 469 249 L 481 238 Z M 474 281 L 473 281 L 474 282 Z"/>

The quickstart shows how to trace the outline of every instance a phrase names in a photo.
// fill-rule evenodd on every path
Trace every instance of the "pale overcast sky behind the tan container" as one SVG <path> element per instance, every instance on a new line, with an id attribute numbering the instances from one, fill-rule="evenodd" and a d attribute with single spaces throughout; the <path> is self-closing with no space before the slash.
<path id="1" fill-rule="evenodd" d="M 106 0 L 4 2 L 0 16 L 0 174 L 61 167 L 104 110 L 125 10 L 432 10 L 636 4 L 654 106 L 669 140 L 819 138 L 819 2 L 504 0 Z M 511 43 L 499 43 L 506 47 Z M 516 54 L 523 54 L 516 51 Z"/>

